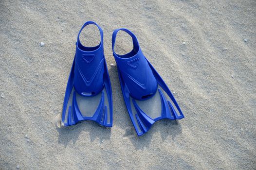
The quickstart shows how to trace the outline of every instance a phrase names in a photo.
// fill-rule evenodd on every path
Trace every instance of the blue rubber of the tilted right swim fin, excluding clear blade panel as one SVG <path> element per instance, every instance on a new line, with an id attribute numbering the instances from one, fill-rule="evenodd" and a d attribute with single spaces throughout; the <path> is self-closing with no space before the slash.
<path id="1" fill-rule="evenodd" d="M 114 51 L 116 34 L 120 30 L 128 33 L 132 37 L 133 50 L 125 55 L 118 55 Z M 138 40 L 132 32 L 124 28 L 115 30 L 112 34 L 112 50 L 117 63 L 117 70 L 124 101 L 126 103 L 129 117 L 138 136 L 144 135 L 150 129 L 152 124 L 158 120 L 184 118 L 180 106 L 174 99 L 171 91 L 142 53 Z M 169 96 L 171 101 L 174 103 L 174 106 L 179 111 L 179 115 L 174 109 L 173 104 L 166 100 L 165 95 L 162 90 L 158 88 L 158 85 L 165 90 L 165 93 Z M 157 90 L 159 91 L 162 104 L 161 116 L 152 119 L 138 106 L 136 100 L 147 100 L 152 97 Z M 132 98 L 131 100 L 130 97 Z M 136 119 L 132 113 L 132 104 L 137 112 L 135 113 Z"/>

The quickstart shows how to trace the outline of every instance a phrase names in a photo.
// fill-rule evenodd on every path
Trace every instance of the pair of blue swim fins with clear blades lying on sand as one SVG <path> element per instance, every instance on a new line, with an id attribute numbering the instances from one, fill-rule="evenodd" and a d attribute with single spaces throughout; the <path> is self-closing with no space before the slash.
<path id="1" fill-rule="evenodd" d="M 85 47 L 79 40 L 81 31 L 89 24 L 98 27 L 101 42 Z M 125 55 L 114 51 L 118 31 L 132 37 L 133 50 Z M 136 36 L 127 29 L 112 34 L 113 56 L 126 107 L 138 136 L 144 135 L 160 119 L 182 119 L 183 113 L 171 91 L 143 55 Z M 86 22 L 77 36 L 76 51 L 71 68 L 61 117 L 62 126 L 82 120 L 94 120 L 112 127 L 113 103 L 110 76 L 103 49 L 103 30 L 92 21 Z"/>

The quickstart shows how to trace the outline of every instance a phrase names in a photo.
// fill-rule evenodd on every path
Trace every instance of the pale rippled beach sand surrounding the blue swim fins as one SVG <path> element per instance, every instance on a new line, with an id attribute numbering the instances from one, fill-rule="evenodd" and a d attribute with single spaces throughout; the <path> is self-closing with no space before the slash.
<path id="1" fill-rule="evenodd" d="M 0 169 L 255 169 L 255 19 L 255 0 L 0 0 Z M 88 20 L 104 30 L 113 128 L 87 121 L 58 129 Z M 136 34 L 185 119 L 135 135 L 110 67 L 111 34 L 121 27 Z"/>

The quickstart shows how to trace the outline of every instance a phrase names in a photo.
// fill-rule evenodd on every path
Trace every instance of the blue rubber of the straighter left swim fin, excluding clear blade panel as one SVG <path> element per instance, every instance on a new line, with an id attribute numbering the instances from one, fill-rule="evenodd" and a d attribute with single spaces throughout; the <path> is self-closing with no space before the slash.
<path id="1" fill-rule="evenodd" d="M 100 31 L 101 42 L 96 47 L 85 47 L 79 40 L 81 31 L 89 24 L 96 25 Z M 68 106 L 73 87 L 73 102 L 72 105 Z M 104 87 L 106 92 L 103 90 Z M 99 93 L 101 93 L 101 100 L 95 113 L 92 117 L 84 117 L 78 108 L 76 95 L 79 94 L 85 98 L 90 98 Z M 108 97 L 108 106 L 105 105 L 105 95 Z M 69 110 L 67 121 L 65 122 L 67 107 Z M 110 110 L 110 113 L 108 113 L 108 110 Z M 103 50 L 103 30 L 95 22 L 88 21 L 82 26 L 77 36 L 75 56 L 63 103 L 61 124 L 62 126 L 71 126 L 82 120 L 94 120 L 100 125 L 112 127 L 112 110 L 112 90 Z M 108 114 L 110 118 L 109 123 Z"/>

